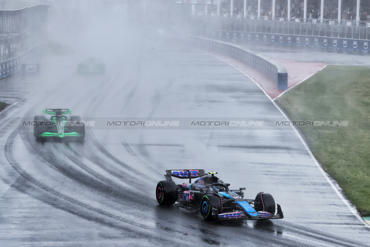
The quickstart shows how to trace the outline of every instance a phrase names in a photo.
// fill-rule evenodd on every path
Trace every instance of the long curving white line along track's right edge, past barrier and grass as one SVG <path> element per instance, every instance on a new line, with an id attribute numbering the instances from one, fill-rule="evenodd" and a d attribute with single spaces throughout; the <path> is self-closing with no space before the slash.
<path id="1" fill-rule="evenodd" d="M 225 61 L 223 60 L 222 58 L 219 58 L 215 55 L 212 55 L 212 54 L 209 54 L 209 53 L 206 53 L 208 55 L 211 55 L 213 57 L 216 57 L 228 64 L 230 64 L 232 67 L 236 68 L 237 70 L 239 70 L 240 72 L 242 72 L 243 74 L 245 74 L 245 72 L 243 72 L 242 70 L 240 70 L 239 68 L 235 67 L 234 65 L 232 65 L 231 63 L 229 63 L 228 61 Z M 265 94 L 266 96 L 270 99 L 270 101 L 272 102 L 272 104 L 274 104 L 276 106 L 277 109 L 279 109 L 279 111 L 281 112 L 281 114 L 286 118 L 287 121 L 290 121 L 288 119 L 288 117 L 284 114 L 284 112 L 279 108 L 279 106 L 276 105 L 275 101 L 273 101 L 270 96 L 266 93 L 265 90 L 263 90 L 263 88 L 255 81 L 253 80 L 252 78 L 250 78 L 249 75 L 245 74 L 249 79 L 251 79 Z M 292 126 L 292 125 L 290 125 Z M 308 153 L 310 154 L 311 158 L 313 159 L 313 161 L 315 162 L 317 168 L 319 168 L 320 172 L 322 173 L 322 175 L 324 175 L 325 179 L 327 180 L 327 182 L 332 186 L 332 188 L 334 189 L 334 191 L 337 193 L 337 195 L 339 196 L 340 199 L 342 199 L 342 201 L 344 202 L 344 204 L 347 205 L 347 207 L 351 210 L 351 212 L 354 214 L 354 216 L 357 217 L 357 219 L 359 219 L 367 228 L 370 229 L 370 225 L 366 223 L 366 221 L 360 216 L 360 214 L 356 211 L 355 208 L 353 208 L 349 203 L 348 201 L 344 198 L 344 196 L 339 192 L 339 190 L 334 186 L 333 182 L 329 179 L 329 176 L 326 174 L 326 172 L 324 171 L 324 169 L 321 167 L 320 163 L 316 160 L 316 158 L 313 156 L 313 153 L 311 152 L 311 150 L 308 148 L 306 142 L 303 140 L 302 136 L 299 134 L 299 132 L 297 131 L 296 129 L 296 126 L 292 126 L 292 128 L 294 129 L 294 131 L 296 132 L 297 136 L 299 137 L 299 139 L 301 140 L 301 142 L 303 143 L 303 145 L 305 146 L 305 148 L 307 149 Z"/>

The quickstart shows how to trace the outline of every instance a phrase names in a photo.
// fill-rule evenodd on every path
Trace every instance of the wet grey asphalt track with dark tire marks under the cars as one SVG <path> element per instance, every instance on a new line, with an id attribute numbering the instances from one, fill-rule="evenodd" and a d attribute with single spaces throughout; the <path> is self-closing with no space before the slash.
<path id="1" fill-rule="evenodd" d="M 292 128 L 91 127 L 84 142 L 36 142 L 20 122 L 47 107 L 91 119 L 283 119 L 240 71 L 165 41 L 144 44 L 138 60 L 117 61 L 103 76 L 76 74 L 71 59 L 78 61 L 45 58 L 33 88 L 40 90 L 1 115 L 1 246 L 369 246 L 369 228 Z M 216 171 L 231 187 L 246 187 L 245 198 L 270 193 L 285 218 L 205 222 L 199 213 L 158 206 L 157 182 L 166 169 L 182 168 Z"/>

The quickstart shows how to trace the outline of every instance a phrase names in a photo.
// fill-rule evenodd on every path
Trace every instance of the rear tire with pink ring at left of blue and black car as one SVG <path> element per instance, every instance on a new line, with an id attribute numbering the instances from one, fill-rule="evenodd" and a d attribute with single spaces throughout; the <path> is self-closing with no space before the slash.
<path id="1" fill-rule="evenodd" d="M 159 205 L 173 205 L 178 198 L 178 190 L 173 181 L 159 181 L 155 189 L 155 197 Z"/>

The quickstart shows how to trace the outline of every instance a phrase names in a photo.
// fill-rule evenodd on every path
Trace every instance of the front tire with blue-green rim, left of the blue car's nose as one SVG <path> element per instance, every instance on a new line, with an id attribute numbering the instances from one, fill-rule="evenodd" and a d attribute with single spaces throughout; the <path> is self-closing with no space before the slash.
<path id="1" fill-rule="evenodd" d="M 218 219 L 218 214 L 221 213 L 221 200 L 218 196 L 206 195 L 203 196 L 200 207 L 203 219 L 206 221 L 216 220 Z"/>

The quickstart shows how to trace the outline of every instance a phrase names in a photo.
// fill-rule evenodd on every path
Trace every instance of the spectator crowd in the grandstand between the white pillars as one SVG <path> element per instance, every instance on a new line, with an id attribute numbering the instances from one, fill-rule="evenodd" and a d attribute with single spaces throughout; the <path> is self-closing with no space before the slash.
<path id="1" fill-rule="evenodd" d="M 288 18 L 288 1 L 275 1 L 275 17 Z M 357 0 L 342 1 L 341 20 L 356 21 Z M 220 14 L 230 15 L 231 0 L 221 1 Z M 304 0 L 291 0 L 290 18 L 303 18 Z M 217 5 L 209 10 L 212 14 L 217 13 Z M 246 15 L 258 16 L 258 0 L 247 0 Z M 323 17 L 321 14 L 321 0 L 307 0 L 307 14 L 309 19 L 338 20 L 338 0 L 324 0 Z M 209 13 L 207 13 L 209 14 Z M 233 0 L 233 16 L 244 16 L 244 0 Z M 272 0 L 261 0 L 260 16 L 272 17 Z M 370 0 L 360 1 L 360 20 L 370 21 Z"/>

